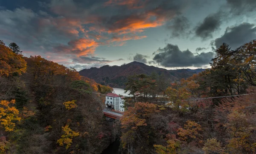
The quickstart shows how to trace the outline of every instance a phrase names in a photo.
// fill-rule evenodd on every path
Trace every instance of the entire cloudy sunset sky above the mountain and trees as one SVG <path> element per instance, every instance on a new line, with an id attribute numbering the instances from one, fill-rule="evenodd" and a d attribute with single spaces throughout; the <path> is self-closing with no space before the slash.
<path id="1" fill-rule="evenodd" d="M 0 0 L 0 39 L 77 70 L 137 61 L 209 68 L 256 39 L 256 0 Z"/>

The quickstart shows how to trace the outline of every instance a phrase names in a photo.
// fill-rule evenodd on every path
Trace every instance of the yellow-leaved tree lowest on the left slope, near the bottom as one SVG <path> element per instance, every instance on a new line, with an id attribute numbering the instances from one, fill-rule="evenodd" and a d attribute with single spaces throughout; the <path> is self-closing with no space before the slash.
<path id="1" fill-rule="evenodd" d="M 74 132 L 68 125 L 62 127 L 62 130 L 64 131 L 64 134 L 57 140 L 57 143 L 59 143 L 60 146 L 64 146 L 65 144 L 67 149 L 71 146 L 72 138 L 78 136 L 79 132 Z"/>

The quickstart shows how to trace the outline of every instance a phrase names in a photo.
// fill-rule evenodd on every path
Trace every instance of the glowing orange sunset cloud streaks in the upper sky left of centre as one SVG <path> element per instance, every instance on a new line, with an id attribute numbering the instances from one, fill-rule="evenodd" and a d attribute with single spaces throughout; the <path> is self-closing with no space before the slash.
<path id="1" fill-rule="evenodd" d="M 147 0 L 109 0 L 105 5 L 113 4 L 127 6 L 128 8 L 140 8 L 148 5 L 146 3 Z M 83 16 L 83 14 L 81 15 Z M 79 19 L 78 16 L 69 16 L 48 20 L 51 25 L 54 25 L 60 31 L 64 31 L 71 39 L 68 45 L 59 45 L 55 47 L 55 50 L 84 56 L 92 54 L 99 45 L 122 46 L 125 45 L 125 41 L 143 39 L 147 36 L 137 36 L 137 33 L 141 33 L 147 28 L 161 26 L 170 17 L 172 17 L 172 12 L 169 12 L 166 8 L 153 6 L 147 11 L 141 10 L 127 15 L 104 17 L 92 14 L 91 17 L 83 19 Z M 81 37 L 81 35 L 83 35 L 83 38 L 72 40 Z"/>

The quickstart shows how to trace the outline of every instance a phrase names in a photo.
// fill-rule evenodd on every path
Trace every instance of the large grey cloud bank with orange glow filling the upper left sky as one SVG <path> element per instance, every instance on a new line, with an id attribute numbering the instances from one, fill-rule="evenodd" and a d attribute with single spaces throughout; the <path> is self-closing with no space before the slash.
<path id="1" fill-rule="evenodd" d="M 119 40 L 112 36 L 125 41 L 145 38 L 135 33 L 164 25 L 186 7 L 186 1 L 134 0 L 133 6 L 142 7 L 132 8 L 126 0 L 113 0 L 111 5 L 102 0 L 23 0 L 29 9 L 22 3 L 11 9 L 8 1 L 7 9 L 0 10 L 0 34 L 24 50 L 84 56 L 107 45 L 99 42 Z"/>

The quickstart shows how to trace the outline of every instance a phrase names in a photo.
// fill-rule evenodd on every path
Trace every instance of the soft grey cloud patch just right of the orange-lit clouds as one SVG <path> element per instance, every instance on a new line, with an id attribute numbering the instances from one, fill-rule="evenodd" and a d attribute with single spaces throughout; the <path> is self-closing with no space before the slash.
<path id="1" fill-rule="evenodd" d="M 189 20 L 183 16 L 175 17 L 167 28 L 172 30 L 171 37 L 188 36 L 191 33 Z"/>

